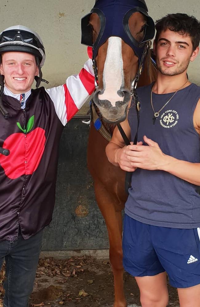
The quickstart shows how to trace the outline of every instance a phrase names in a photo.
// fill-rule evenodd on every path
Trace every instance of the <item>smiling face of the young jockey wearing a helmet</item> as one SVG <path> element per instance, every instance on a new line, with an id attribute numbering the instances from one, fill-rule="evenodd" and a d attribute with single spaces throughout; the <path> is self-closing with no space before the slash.
<path id="1" fill-rule="evenodd" d="M 34 77 L 39 74 L 35 56 L 26 52 L 3 53 L 0 70 L 5 78 L 6 87 L 13 94 L 29 91 Z"/>

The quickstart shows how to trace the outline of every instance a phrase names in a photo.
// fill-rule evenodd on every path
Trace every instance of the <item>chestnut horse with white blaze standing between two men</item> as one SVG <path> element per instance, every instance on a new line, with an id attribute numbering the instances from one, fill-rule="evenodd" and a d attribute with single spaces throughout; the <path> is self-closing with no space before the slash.
<path id="1" fill-rule="evenodd" d="M 140 1 L 143 10 L 138 10 L 138 7 L 135 9 L 135 2 L 138 5 Z M 148 55 L 149 58 L 145 60 L 145 63 L 141 64 L 142 55 L 140 50 L 138 51 L 137 48 L 133 48 L 133 45 L 128 44 L 127 41 L 125 42 L 126 38 L 123 37 L 124 34 L 118 37 L 116 33 L 114 35 L 111 33 L 111 36 L 109 36 L 110 33 L 107 33 L 108 38 L 104 35 L 105 31 L 110 31 L 110 28 L 106 30 L 102 12 L 104 15 L 108 13 L 107 10 L 104 10 L 105 7 L 108 10 L 111 8 L 112 12 L 113 10 L 116 11 L 115 4 L 111 7 L 113 2 L 120 1 L 98 0 L 96 4 L 100 4 L 100 6 L 95 4 L 92 12 L 83 17 L 82 43 L 93 46 L 94 72 L 96 73 L 95 85 L 97 88 L 94 93 L 94 103 L 96 106 L 93 106 L 93 111 L 94 109 L 96 111 L 93 112 L 93 121 L 91 122 L 88 140 L 88 168 L 94 179 L 96 200 L 108 230 L 110 263 L 114 274 L 114 307 L 125 307 L 126 299 L 123 291 L 122 265 L 122 210 L 127 199 L 125 192 L 125 172 L 108 161 L 105 148 L 111 138 L 116 122 L 121 122 L 126 118 L 127 107 L 130 103 L 131 95 L 134 94 L 134 87 L 137 85 L 132 80 L 135 80 L 135 77 L 138 76 L 138 71 L 139 74 L 141 73 L 143 67 L 139 85 L 150 84 L 156 78 L 156 69 L 149 60 L 150 54 Z M 140 42 L 145 37 L 145 32 L 147 32 L 146 27 L 149 26 L 151 20 L 149 20 L 150 17 L 148 18 L 148 14 L 143 14 L 143 12 L 147 12 L 147 8 L 146 11 L 144 10 L 146 6 L 144 0 L 122 0 L 121 4 L 125 2 L 128 2 L 128 5 L 131 3 L 128 8 L 130 11 L 133 10 L 133 12 L 130 12 L 132 14 L 129 14 L 130 16 L 127 22 L 131 36 L 134 37 L 135 44 L 137 45 L 137 41 Z M 118 18 L 120 12 L 122 12 L 122 5 L 118 14 L 111 16 L 111 22 L 117 22 L 117 25 L 114 24 L 114 28 L 120 22 L 120 18 Z M 124 19 L 126 18 L 123 16 Z M 106 19 L 107 21 L 108 18 Z M 91 26 L 91 32 L 83 33 L 85 31 L 84 27 L 88 24 Z M 126 28 L 126 25 L 124 27 Z M 104 28 L 104 33 L 101 33 L 102 28 Z M 87 34 L 88 36 L 92 36 L 92 44 L 89 41 L 91 37 L 87 37 Z M 100 34 L 104 36 L 102 44 L 100 42 L 101 38 L 99 40 Z M 153 36 L 154 30 L 152 29 L 149 40 Z M 96 41 L 97 46 L 95 47 Z M 145 47 L 146 45 L 144 44 L 143 51 Z M 138 81 L 138 78 L 136 78 L 136 81 Z M 105 130 L 107 132 L 106 138 L 95 127 L 94 121 L 98 117 L 96 112 L 98 115 L 101 113 L 99 119 L 101 120 L 104 132 Z"/>

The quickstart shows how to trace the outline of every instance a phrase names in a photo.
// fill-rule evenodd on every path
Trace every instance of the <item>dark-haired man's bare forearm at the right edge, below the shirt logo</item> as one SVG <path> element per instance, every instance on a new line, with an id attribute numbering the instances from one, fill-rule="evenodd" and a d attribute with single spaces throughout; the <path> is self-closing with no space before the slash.
<path id="1" fill-rule="evenodd" d="M 191 163 L 166 156 L 160 169 L 200 186 L 200 163 Z"/>

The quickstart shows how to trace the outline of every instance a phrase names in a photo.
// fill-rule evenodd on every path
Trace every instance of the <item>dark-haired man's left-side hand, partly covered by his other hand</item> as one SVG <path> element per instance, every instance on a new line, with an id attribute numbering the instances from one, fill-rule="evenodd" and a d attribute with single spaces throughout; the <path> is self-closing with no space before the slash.
<path id="1" fill-rule="evenodd" d="M 131 145 L 129 146 L 141 146 L 142 142 L 137 142 L 137 145 L 133 145 L 133 142 L 130 142 Z M 131 154 L 132 150 L 128 149 L 129 146 L 124 146 L 123 148 L 120 148 L 116 150 L 117 155 L 117 161 L 121 169 L 123 169 L 126 172 L 134 172 L 137 167 L 132 166 L 132 162 L 127 157 L 127 153 Z"/>

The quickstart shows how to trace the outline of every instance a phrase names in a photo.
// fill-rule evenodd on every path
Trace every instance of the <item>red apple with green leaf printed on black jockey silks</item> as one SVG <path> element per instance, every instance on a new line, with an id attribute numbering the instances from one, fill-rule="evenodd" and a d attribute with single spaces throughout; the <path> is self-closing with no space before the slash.
<path id="1" fill-rule="evenodd" d="M 10 179 L 31 175 L 38 168 L 46 141 L 42 128 L 29 133 L 34 125 L 34 115 L 29 119 L 26 129 L 19 122 L 17 125 L 23 133 L 14 133 L 6 138 L 3 148 L 10 150 L 10 155 L 6 157 L 0 154 L 0 164 Z"/>

